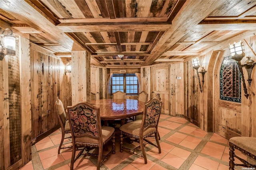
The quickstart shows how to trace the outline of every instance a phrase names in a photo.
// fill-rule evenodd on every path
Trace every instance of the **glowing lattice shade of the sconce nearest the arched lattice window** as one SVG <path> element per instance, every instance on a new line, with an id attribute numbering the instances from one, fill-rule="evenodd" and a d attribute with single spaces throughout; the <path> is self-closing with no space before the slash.
<path id="1" fill-rule="evenodd" d="M 236 61 L 241 61 L 245 56 L 244 53 L 244 45 L 243 42 L 234 42 L 233 44 L 229 44 L 229 50 L 231 53 L 232 59 Z"/>

